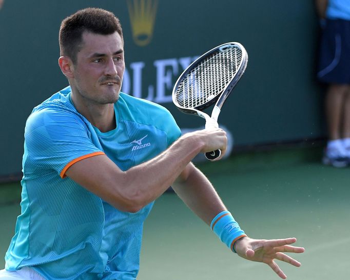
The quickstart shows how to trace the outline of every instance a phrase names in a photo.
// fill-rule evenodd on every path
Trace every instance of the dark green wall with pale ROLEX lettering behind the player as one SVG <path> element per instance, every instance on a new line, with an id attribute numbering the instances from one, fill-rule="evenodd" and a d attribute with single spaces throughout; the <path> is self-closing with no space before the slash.
<path id="1" fill-rule="evenodd" d="M 57 34 L 64 17 L 85 7 L 105 8 L 121 19 L 127 93 L 149 97 L 153 90 L 151 100 L 169 99 L 184 62 L 216 45 L 237 41 L 247 49 L 249 63 L 219 117 L 234 135 L 235 145 L 324 137 L 312 1 L 159 0 L 151 41 L 140 47 L 132 38 L 127 0 L 5 0 L 0 10 L 0 176 L 21 171 L 24 125 L 32 108 L 67 85 L 57 65 Z M 137 72 L 140 65 L 142 71 Z M 138 73 L 141 91 L 133 85 L 140 80 L 135 78 Z M 204 124 L 181 114 L 170 102 L 162 105 L 181 127 Z"/>

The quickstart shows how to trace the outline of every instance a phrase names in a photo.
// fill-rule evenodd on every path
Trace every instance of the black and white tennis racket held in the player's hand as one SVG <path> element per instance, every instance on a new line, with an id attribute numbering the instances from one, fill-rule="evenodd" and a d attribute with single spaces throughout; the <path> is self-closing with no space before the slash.
<path id="1" fill-rule="evenodd" d="M 172 91 L 172 102 L 184 113 L 205 118 L 206 127 L 219 127 L 221 108 L 243 75 L 247 62 L 248 54 L 239 43 L 211 49 L 180 75 Z M 211 116 L 203 112 L 214 103 Z M 211 161 L 220 155 L 221 150 L 205 153 Z"/>

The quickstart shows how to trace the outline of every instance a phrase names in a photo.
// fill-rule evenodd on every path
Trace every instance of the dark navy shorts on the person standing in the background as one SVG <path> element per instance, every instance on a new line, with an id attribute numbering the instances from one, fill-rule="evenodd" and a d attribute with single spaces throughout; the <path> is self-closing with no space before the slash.
<path id="1" fill-rule="evenodd" d="M 324 83 L 350 84 L 350 21 L 326 20 L 317 77 Z"/>

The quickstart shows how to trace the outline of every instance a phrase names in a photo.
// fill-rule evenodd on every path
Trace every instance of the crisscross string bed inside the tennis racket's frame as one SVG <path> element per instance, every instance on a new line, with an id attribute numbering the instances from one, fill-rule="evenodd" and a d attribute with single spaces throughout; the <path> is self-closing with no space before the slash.
<path id="1" fill-rule="evenodd" d="M 180 82 L 176 101 L 181 107 L 196 108 L 218 96 L 236 75 L 242 51 L 227 48 L 206 57 Z"/>

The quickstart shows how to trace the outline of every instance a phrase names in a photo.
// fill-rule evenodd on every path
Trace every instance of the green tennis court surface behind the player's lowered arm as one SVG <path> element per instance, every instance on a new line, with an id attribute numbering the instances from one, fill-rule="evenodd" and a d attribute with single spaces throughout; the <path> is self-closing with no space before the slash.
<path id="1" fill-rule="evenodd" d="M 319 163 L 320 149 L 247 153 L 201 164 L 245 232 L 254 238 L 297 237 L 300 268 L 278 262 L 288 279 L 348 279 L 350 168 Z M 212 169 L 215 167 L 214 169 Z M 0 185 L 0 269 L 13 235 L 18 184 Z M 7 199 L 8 201 L 9 199 Z M 13 200 L 13 199 L 12 199 Z M 292 254 L 290 254 L 292 255 Z M 144 229 L 140 280 L 279 279 L 267 266 L 231 253 L 173 193 L 154 205 Z"/>

